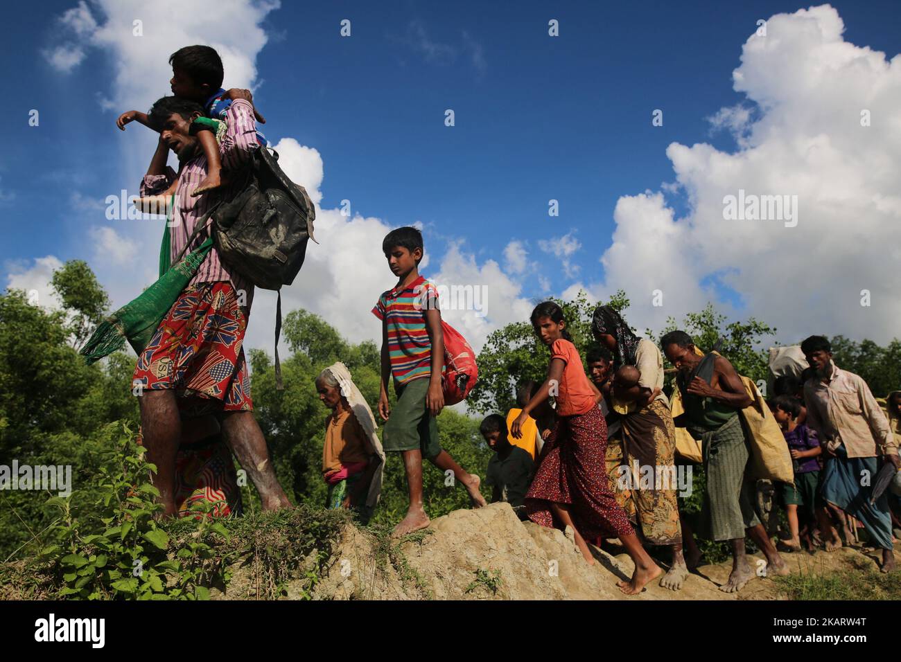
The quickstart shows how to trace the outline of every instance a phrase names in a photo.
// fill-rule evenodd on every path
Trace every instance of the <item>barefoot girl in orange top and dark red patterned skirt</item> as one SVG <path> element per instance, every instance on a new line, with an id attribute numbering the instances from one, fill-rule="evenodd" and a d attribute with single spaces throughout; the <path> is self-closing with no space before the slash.
<path id="1" fill-rule="evenodd" d="M 525 495 L 526 512 L 542 526 L 551 527 L 557 521 L 560 528 L 572 527 L 576 545 L 589 564 L 594 564 L 595 558 L 584 537 L 614 533 L 635 564 L 632 580 L 617 585 L 624 594 L 640 593 L 663 571 L 642 549 L 607 485 L 606 422 L 597 408 L 582 359 L 566 331 L 563 310 L 551 301 L 538 304 L 531 321 L 535 333 L 551 348 L 551 365 L 547 380 L 523 407 L 510 431 L 514 438 L 521 437 L 526 417 L 550 396 L 557 400 L 558 420 L 547 441 L 551 448 L 545 449 Z"/>

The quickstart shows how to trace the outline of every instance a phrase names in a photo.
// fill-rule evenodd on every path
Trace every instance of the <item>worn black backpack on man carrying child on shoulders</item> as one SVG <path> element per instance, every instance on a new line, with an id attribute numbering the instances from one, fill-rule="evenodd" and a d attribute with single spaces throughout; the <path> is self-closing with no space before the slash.
<path id="1" fill-rule="evenodd" d="M 250 164 L 230 176 L 245 178 L 241 192 L 215 204 L 197 221 L 185 249 L 208 225 L 219 258 L 228 268 L 254 286 L 278 291 L 275 369 L 276 388 L 281 389 L 281 286 L 294 282 L 304 264 L 307 240 L 315 241 L 316 210 L 306 189 L 279 168 L 275 150 L 269 153 L 260 146 Z"/>

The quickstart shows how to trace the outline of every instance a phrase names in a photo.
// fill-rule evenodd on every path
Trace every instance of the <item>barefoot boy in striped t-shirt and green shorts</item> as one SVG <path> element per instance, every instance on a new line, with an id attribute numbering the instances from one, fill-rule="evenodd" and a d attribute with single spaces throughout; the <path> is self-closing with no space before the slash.
<path id="1" fill-rule="evenodd" d="M 438 438 L 435 417 L 444 406 L 444 340 L 438 292 L 419 275 L 423 235 L 416 228 L 397 228 L 387 233 L 382 250 L 397 285 L 379 296 L 372 309 L 382 321 L 378 414 L 385 420 L 382 446 L 404 458 L 410 505 L 404 520 L 394 529 L 395 536 L 402 536 L 429 525 L 423 510 L 423 456 L 441 471 L 451 471 L 477 508 L 486 502 L 478 491 L 479 477 L 464 471 L 447 451 L 441 450 Z M 394 377 L 397 395 L 393 412 L 388 404 L 388 376 Z"/>

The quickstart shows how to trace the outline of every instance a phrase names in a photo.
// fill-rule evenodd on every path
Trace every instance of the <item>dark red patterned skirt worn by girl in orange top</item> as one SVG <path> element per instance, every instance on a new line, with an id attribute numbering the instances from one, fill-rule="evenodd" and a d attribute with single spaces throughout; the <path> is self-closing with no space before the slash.
<path id="1" fill-rule="evenodd" d="M 551 503 L 569 506 L 583 538 L 633 533 L 625 512 L 607 483 L 607 425 L 600 410 L 561 417 L 542 450 L 542 461 L 525 495 L 529 519 L 554 525 Z"/>

